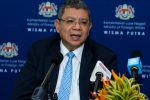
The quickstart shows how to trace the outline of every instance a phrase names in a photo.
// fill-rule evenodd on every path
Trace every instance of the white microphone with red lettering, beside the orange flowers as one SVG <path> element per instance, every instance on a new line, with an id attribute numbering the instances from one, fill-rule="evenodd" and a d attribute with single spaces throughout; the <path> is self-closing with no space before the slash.
<path id="1" fill-rule="evenodd" d="M 92 97 L 95 97 L 97 90 L 102 88 L 102 81 L 109 81 L 110 79 L 111 72 L 100 60 L 97 61 L 90 78 L 91 82 L 95 82 Z"/>

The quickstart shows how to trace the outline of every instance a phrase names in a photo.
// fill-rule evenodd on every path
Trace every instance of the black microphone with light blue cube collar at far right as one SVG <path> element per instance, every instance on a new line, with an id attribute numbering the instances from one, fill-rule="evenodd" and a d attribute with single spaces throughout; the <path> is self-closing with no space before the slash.
<path id="1" fill-rule="evenodd" d="M 131 56 L 128 59 L 127 68 L 129 74 L 135 79 L 137 79 L 138 75 L 142 74 L 142 62 L 140 51 L 135 50 L 131 53 Z"/>

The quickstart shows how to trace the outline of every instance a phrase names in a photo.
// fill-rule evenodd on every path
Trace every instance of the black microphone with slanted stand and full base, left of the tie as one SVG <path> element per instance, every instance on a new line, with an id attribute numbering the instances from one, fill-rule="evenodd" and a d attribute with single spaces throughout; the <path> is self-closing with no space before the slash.
<path id="1" fill-rule="evenodd" d="M 63 60 L 63 55 L 59 53 L 56 54 L 54 58 L 51 60 L 52 64 L 48 69 L 48 72 L 46 73 L 46 76 L 44 77 L 43 82 L 41 85 L 37 88 L 35 88 L 31 99 L 32 100 L 57 100 L 57 94 L 54 94 L 54 92 L 51 89 L 50 84 L 50 75 L 52 70 L 54 69 L 55 65 L 59 65 L 61 61 Z"/>

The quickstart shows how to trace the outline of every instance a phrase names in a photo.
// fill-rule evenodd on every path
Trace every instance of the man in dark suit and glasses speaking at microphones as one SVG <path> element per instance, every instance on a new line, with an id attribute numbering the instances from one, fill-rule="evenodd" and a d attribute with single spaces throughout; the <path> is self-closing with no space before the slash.
<path id="1" fill-rule="evenodd" d="M 13 100 L 31 100 L 31 95 L 37 86 L 40 86 L 45 74 L 51 66 L 53 55 L 61 53 L 63 60 L 60 66 L 53 69 L 50 77 L 51 90 L 62 99 L 60 91 L 68 61 L 68 52 L 72 52 L 71 86 L 67 90 L 68 100 L 88 100 L 90 77 L 98 60 L 101 60 L 108 69 L 116 66 L 116 55 L 108 48 L 91 40 L 89 31 L 92 27 L 90 11 L 81 0 L 68 0 L 61 5 L 55 27 L 59 36 L 48 38 L 34 43 L 24 69 L 21 71 Z M 65 83 L 65 82 L 64 82 Z M 67 86 L 66 86 L 67 87 Z"/>

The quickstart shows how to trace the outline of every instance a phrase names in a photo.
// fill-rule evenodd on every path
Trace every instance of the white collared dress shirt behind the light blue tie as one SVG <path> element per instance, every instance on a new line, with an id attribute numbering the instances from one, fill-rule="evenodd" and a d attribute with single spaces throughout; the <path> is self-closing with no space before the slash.
<path id="1" fill-rule="evenodd" d="M 79 92 L 79 72 L 80 72 L 80 64 L 81 64 L 81 57 L 82 57 L 82 52 L 83 52 L 83 47 L 80 46 L 76 50 L 73 51 L 75 54 L 74 58 L 72 59 L 72 64 L 73 64 L 73 77 L 72 77 L 72 85 L 71 85 L 71 93 L 69 100 L 80 100 L 80 92 Z M 55 93 L 59 92 L 60 89 L 60 84 L 63 76 L 63 72 L 66 66 L 66 63 L 68 61 L 68 56 L 66 55 L 68 52 L 70 52 L 62 43 L 60 43 L 60 49 L 61 53 L 64 56 L 63 61 L 60 64 L 60 69 L 59 69 L 59 74 L 58 74 L 58 79 L 57 79 L 57 84 L 56 84 L 56 89 Z"/>

